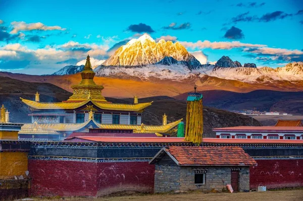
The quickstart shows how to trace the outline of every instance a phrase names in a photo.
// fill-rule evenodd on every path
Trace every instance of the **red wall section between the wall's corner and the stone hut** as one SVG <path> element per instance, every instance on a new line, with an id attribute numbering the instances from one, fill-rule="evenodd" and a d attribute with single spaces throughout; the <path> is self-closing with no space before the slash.
<path id="1" fill-rule="evenodd" d="M 148 162 L 98 163 L 97 169 L 97 195 L 154 190 L 155 165 Z"/>

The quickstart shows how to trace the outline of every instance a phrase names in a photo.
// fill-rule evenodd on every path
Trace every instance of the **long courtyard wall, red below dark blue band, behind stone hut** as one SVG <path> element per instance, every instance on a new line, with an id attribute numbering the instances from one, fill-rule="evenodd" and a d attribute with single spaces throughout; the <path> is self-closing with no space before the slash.
<path id="1" fill-rule="evenodd" d="M 149 165 L 148 161 L 163 146 L 192 145 L 185 142 L 2 141 L 0 153 L 10 153 L 12 156 L 9 157 L 10 160 L 15 158 L 16 154 L 22 157 L 16 157 L 20 159 L 20 163 L 13 161 L 5 166 L 2 165 L 6 162 L 1 163 L 3 158 L 0 159 L 3 174 L 6 173 L 0 177 L 0 195 L 17 192 L 16 189 L 22 189 L 20 192 L 31 196 L 98 196 L 119 191 L 154 192 L 155 166 Z M 249 168 L 249 188 L 252 190 L 258 186 L 267 188 L 303 186 L 302 144 L 204 143 L 204 146 L 242 147 L 258 163 L 257 166 Z M 14 181 L 14 175 L 24 175 L 26 169 L 29 170 L 29 177 L 25 177 L 23 181 Z M 10 182 L 22 184 L 17 188 L 15 184 L 8 185 Z"/>

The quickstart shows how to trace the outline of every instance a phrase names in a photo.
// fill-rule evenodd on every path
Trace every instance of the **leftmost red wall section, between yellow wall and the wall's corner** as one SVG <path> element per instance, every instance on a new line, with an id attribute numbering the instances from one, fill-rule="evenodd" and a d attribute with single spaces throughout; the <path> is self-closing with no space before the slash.
<path id="1" fill-rule="evenodd" d="M 96 163 L 28 160 L 32 196 L 94 196 Z"/>

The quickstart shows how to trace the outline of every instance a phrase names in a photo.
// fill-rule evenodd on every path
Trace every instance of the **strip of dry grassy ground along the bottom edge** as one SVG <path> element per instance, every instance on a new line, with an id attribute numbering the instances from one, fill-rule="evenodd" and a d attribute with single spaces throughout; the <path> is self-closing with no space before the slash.
<path id="1" fill-rule="evenodd" d="M 46 200 L 35 199 L 35 200 Z M 52 201 L 59 201 L 62 198 L 49 199 Z M 181 200 L 207 200 L 207 201 L 225 201 L 225 200 L 241 200 L 241 201 L 294 201 L 303 200 L 303 189 L 291 189 L 291 190 L 278 190 L 278 191 L 266 191 L 266 192 L 237 192 L 237 193 L 201 193 L 201 192 L 189 192 L 183 194 L 139 194 L 139 195 L 124 195 L 124 196 L 109 196 L 109 197 L 99 197 L 99 198 L 64 198 L 64 200 L 73 201 L 116 201 L 116 200 L 131 200 L 131 201 L 181 201 Z"/>

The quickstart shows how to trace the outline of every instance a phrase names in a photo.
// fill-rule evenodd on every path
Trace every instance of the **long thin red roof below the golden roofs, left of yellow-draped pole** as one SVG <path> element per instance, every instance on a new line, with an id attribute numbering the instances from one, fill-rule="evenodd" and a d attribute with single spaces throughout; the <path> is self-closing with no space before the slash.
<path id="1" fill-rule="evenodd" d="M 184 141 L 184 138 L 171 137 L 75 137 L 71 138 L 70 140 L 73 139 L 105 143 L 188 143 Z"/>

